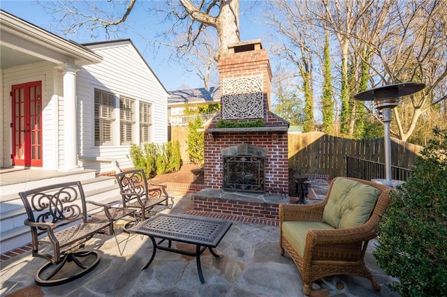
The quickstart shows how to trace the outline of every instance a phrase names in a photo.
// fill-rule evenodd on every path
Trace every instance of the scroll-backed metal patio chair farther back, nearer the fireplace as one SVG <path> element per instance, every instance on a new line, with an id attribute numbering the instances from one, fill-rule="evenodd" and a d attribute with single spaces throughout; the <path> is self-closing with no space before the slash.
<path id="1" fill-rule="evenodd" d="M 164 203 L 168 206 L 168 192 L 166 185 L 157 185 L 147 183 L 145 172 L 142 169 L 134 169 L 115 174 L 124 208 L 133 208 L 137 210 L 136 215 L 140 220 L 149 218 L 149 212 L 157 204 Z"/>

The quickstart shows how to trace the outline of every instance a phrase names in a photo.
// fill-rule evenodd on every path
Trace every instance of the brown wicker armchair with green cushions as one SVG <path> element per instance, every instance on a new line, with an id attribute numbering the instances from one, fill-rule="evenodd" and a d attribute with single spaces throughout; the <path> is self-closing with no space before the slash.
<path id="1" fill-rule="evenodd" d="M 358 226 L 349 227 L 346 226 L 346 222 L 340 222 L 339 227 L 333 227 L 325 220 L 330 221 L 327 218 L 328 213 L 339 208 L 339 201 L 334 203 L 333 199 L 336 192 L 344 192 L 344 197 L 351 195 L 351 199 L 355 202 L 351 201 L 350 204 L 360 204 L 364 198 L 361 192 L 351 191 L 352 183 L 357 183 L 360 187 L 370 186 L 373 188 L 369 190 L 376 191 L 377 197 L 372 202 L 372 211 L 369 211 L 371 214 L 368 213 L 365 217 L 366 222 L 359 223 Z M 336 189 L 337 186 L 341 188 L 341 185 L 344 189 Z M 312 282 L 315 280 L 339 274 L 367 277 L 372 282 L 372 287 L 377 291 L 380 290 L 380 284 L 374 280 L 365 265 L 364 257 L 368 241 L 376 237 L 380 215 L 390 204 L 390 190 L 385 185 L 371 181 L 335 178 L 325 199 L 318 204 L 279 205 L 280 253 L 284 255 L 286 250 L 298 266 L 306 295 L 311 293 Z M 325 207 L 328 208 L 326 213 Z M 352 213 L 352 209 L 342 212 Z M 299 230 L 290 229 L 291 226 Z"/>

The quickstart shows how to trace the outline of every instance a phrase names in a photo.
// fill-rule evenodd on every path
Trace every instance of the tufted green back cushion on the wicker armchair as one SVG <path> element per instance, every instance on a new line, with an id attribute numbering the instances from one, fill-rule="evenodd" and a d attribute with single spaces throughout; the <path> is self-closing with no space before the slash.
<path id="1" fill-rule="evenodd" d="M 330 190 L 323 222 L 337 229 L 365 224 L 379 195 L 380 191 L 370 185 L 339 177 Z"/>

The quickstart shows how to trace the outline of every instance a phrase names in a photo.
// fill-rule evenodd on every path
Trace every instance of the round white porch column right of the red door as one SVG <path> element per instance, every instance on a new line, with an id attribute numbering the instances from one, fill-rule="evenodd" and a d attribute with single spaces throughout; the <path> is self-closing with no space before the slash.
<path id="1" fill-rule="evenodd" d="M 76 123 L 76 73 L 78 68 L 64 64 L 64 170 L 80 169 L 78 165 L 78 125 Z"/>

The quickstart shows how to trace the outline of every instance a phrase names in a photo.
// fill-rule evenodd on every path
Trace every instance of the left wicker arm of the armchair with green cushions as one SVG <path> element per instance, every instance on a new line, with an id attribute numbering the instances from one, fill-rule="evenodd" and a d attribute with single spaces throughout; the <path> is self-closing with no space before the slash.
<path id="1" fill-rule="evenodd" d="M 325 204 L 279 204 L 279 223 L 285 221 L 319 222 Z"/>

